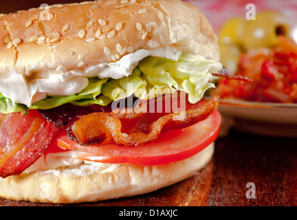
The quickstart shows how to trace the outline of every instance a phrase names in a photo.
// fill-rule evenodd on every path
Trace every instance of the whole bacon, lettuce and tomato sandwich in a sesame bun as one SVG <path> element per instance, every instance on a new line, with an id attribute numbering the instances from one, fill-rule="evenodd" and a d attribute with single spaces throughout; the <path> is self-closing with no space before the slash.
<path id="1" fill-rule="evenodd" d="M 177 0 L 92 1 L 0 17 L 0 196 L 131 197 L 212 158 L 222 72 L 210 23 Z"/>

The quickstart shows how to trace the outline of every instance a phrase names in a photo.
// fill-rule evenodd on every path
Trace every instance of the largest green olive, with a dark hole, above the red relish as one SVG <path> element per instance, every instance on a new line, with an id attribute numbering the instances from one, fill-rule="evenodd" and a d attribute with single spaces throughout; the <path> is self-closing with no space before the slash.
<path id="1" fill-rule="evenodd" d="M 289 36 L 289 21 L 283 14 L 267 10 L 256 14 L 255 20 L 245 25 L 243 46 L 246 50 L 254 47 L 275 47 L 278 35 Z"/>

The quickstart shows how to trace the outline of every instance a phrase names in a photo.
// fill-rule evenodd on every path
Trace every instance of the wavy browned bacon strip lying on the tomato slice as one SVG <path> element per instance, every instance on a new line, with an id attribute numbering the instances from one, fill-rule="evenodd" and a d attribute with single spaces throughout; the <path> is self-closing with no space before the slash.
<path id="1" fill-rule="evenodd" d="M 164 115 L 146 126 L 145 132 L 122 133 L 122 122 L 115 113 L 90 113 L 72 124 L 72 132 L 80 144 L 115 142 L 124 146 L 140 146 L 156 140 L 162 131 L 182 129 L 208 118 L 218 104 L 219 98 L 214 96 L 197 109 Z"/>

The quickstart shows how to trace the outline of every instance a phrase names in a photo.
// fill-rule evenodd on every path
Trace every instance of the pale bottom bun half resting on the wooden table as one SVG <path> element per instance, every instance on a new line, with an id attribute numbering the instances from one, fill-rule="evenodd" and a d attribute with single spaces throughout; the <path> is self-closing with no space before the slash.
<path id="1" fill-rule="evenodd" d="M 0 197 L 45 203 L 80 203 L 131 197 L 194 175 L 206 166 L 214 143 L 179 162 L 158 166 L 85 162 L 0 179 Z"/>

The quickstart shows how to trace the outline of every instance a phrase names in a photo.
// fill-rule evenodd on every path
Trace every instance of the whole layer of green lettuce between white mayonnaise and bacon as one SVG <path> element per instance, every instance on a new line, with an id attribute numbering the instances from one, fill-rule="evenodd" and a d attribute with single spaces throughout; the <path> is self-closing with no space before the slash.
<path id="1" fill-rule="evenodd" d="M 133 69 L 130 76 L 112 78 L 89 78 L 89 85 L 72 96 L 48 96 L 35 102 L 29 109 L 52 109 L 62 104 L 80 106 L 107 105 L 134 94 L 140 99 L 160 94 L 185 91 L 191 103 L 199 101 L 207 89 L 214 87 L 211 73 L 221 69 L 221 64 L 197 55 L 181 55 L 178 61 L 148 56 Z M 17 104 L 0 94 L 0 112 L 28 112 L 28 107 Z"/>

